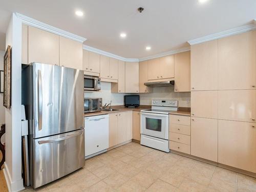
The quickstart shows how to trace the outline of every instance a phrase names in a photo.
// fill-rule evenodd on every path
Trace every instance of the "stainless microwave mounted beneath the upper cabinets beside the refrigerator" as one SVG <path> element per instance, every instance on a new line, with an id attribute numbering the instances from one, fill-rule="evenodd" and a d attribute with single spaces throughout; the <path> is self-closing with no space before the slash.
<path id="1" fill-rule="evenodd" d="M 96 76 L 84 75 L 83 89 L 84 91 L 100 91 L 100 78 Z"/>

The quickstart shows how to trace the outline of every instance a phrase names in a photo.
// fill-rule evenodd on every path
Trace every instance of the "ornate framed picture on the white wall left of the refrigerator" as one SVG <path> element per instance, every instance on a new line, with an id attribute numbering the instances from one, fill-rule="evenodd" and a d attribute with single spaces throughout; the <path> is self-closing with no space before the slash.
<path id="1" fill-rule="evenodd" d="M 11 108 L 11 46 L 7 47 L 4 56 L 4 103 L 7 108 Z"/>

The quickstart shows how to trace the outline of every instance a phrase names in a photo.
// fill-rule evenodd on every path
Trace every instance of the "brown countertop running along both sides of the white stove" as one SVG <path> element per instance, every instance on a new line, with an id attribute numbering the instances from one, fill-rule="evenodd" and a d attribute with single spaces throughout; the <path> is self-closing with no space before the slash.
<path id="1" fill-rule="evenodd" d="M 106 115 L 106 114 L 119 113 L 119 112 L 125 112 L 125 111 L 140 111 L 145 109 L 151 109 L 151 106 L 141 105 L 138 108 L 125 108 L 124 106 L 121 105 L 121 106 L 113 106 L 113 109 L 118 109 L 118 111 L 101 111 L 101 112 L 94 112 L 94 113 L 84 113 L 84 117 Z M 189 111 L 172 111 L 169 114 L 190 116 Z"/>

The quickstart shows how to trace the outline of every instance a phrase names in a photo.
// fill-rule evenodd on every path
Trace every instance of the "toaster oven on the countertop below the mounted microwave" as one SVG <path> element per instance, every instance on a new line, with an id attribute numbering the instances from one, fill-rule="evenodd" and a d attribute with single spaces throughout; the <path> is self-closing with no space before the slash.
<path id="1" fill-rule="evenodd" d="M 84 98 L 84 113 L 98 112 L 102 109 L 102 98 Z"/>

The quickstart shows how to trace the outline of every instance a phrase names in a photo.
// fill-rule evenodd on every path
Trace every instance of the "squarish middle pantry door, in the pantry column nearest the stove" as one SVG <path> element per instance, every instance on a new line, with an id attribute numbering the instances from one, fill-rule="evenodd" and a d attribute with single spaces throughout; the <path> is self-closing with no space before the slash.
<path id="1" fill-rule="evenodd" d="M 191 117 L 218 119 L 218 91 L 191 92 Z"/>

